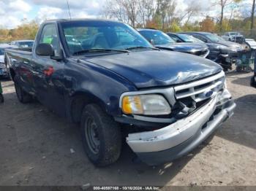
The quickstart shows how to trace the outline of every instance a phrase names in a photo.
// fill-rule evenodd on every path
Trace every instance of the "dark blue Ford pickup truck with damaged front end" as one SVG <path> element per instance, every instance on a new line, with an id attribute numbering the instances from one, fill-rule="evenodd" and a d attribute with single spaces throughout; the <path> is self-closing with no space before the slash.
<path id="1" fill-rule="evenodd" d="M 122 135 L 148 165 L 170 162 L 214 133 L 236 107 L 217 63 L 154 48 L 116 21 L 49 20 L 33 48 L 6 56 L 18 100 L 37 98 L 79 122 L 97 166 L 118 160 Z"/>

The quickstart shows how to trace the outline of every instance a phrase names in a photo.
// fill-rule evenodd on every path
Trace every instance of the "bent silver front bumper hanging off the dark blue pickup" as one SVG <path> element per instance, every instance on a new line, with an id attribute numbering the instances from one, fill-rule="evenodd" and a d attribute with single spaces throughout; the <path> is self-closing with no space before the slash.
<path id="1" fill-rule="evenodd" d="M 224 90 L 189 117 L 159 130 L 129 134 L 127 144 L 148 165 L 171 162 L 207 139 L 233 115 L 235 107 L 230 93 Z"/>

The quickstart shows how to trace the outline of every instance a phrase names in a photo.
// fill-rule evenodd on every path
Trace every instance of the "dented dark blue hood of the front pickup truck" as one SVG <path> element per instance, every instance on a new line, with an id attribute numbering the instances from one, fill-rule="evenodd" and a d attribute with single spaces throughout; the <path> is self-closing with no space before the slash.
<path id="1" fill-rule="evenodd" d="M 138 88 L 177 85 L 222 71 L 217 63 L 204 58 L 165 50 L 117 53 L 83 60 L 114 71 Z"/>

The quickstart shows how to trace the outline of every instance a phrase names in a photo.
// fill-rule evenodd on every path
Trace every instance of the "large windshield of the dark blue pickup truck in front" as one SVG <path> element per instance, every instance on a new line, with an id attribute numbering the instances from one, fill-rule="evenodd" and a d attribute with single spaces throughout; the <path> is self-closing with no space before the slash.
<path id="1" fill-rule="evenodd" d="M 152 47 L 135 29 L 113 21 L 71 21 L 61 23 L 72 54 L 85 50 L 127 50 L 131 47 Z"/>

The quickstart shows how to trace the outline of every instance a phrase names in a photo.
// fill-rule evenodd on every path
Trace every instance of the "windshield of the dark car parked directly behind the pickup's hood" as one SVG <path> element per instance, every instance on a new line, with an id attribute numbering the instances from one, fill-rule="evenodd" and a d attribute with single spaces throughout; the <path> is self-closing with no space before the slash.
<path id="1" fill-rule="evenodd" d="M 148 40 L 148 42 L 152 42 L 154 45 L 175 43 L 175 41 L 170 38 L 170 36 L 163 33 L 162 31 L 145 30 L 139 32 Z"/>

